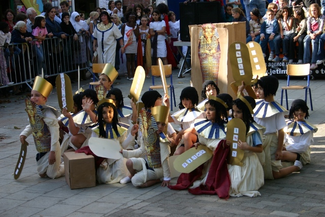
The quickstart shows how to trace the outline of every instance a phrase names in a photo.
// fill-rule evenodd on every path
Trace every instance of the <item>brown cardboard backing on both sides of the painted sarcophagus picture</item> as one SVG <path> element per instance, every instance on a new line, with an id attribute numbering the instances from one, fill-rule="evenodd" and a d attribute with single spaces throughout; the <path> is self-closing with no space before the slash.
<path id="1" fill-rule="evenodd" d="M 234 99 L 236 95 L 231 89 L 230 84 L 234 82 L 230 61 L 228 58 L 228 48 L 235 40 L 246 42 L 245 22 L 238 23 L 213 23 L 217 27 L 219 34 L 219 44 L 221 50 L 221 58 L 219 61 L 218 87 L 221 93 L 228 93 Z M 198 92 L 202 91 L 202 73 L 200 68 L 200 60 L 198 56 L 199 32 L 201 25 L 189 25 L 191 37 L 191 81 L 193 87 Z M 200 98 L 200 102 L 201 102 Z"/>

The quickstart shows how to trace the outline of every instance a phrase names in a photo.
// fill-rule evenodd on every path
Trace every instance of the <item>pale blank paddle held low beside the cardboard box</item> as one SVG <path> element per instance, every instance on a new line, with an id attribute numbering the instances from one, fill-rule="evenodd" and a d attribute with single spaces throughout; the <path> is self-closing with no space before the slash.
<path id="1" fill-rule="evenodd" d="M 98 157 L 120 159 L 122 154 L 120 143 L 116 139 L 91 137 L 88 142 L 90 150 Z"/>

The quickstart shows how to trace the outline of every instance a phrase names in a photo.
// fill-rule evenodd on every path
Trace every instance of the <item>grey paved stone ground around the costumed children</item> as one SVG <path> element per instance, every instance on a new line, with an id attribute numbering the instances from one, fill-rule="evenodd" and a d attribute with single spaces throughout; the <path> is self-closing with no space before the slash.
<path id="1" fill-rule="evenodd" d="M 189 86 L 190 76 L 177 78 L 173 71 L 176 103 L 181 90 Z M 159 79 L 156 79 L 159 80 Z M 83 81 L 83 88 L 88 88 Z M 295 80 L 292 84 L 304 84 Z M 280 86 L 285 85 L 280 80 Z M 143 92 L 151 84 L 146 79 Z M 127 96 L 131 81 L 122 77 L 114 85 Z M 318 126 L 312 146 L 312 162 L 288 177 L 267 180 L 256 198 L 194 196 L 187 191 L 173 191 L 156 184 L 147 189 L 137 189 L 132 184 L 98 184 L 94 188 L 70 190 L 64 177 L 40 178 L 36 172 L 36 150 L 32 137 L 24 169 L 18 180 L 13 177 L 20 152 L 19 134 L 28 124 L 24 111 L 24 97 L 11 97 L 11 103 L 0 104 L 0 216 L 325 216 L 325 100 L 323 80 L 311 81 L 314 111 L 309 121 Z M 77 90 L 77 84 L 73 84 Z M 163 92 L 162 90 L 160 91 Z M 277 92 L 277 100 L 281 92 Z M 304 91 L 289 91 L 289 103 L 304 99 Z M 129 100 L 124 99 L 128 104 Z M 56 90 L 48 104 L 58 108 Z M 175 112 L 177 109 L 174 109 Z M 15 129 L 15 127 L 21 129 Z M 172 181 L 176 183 L 177 178 Z"/>

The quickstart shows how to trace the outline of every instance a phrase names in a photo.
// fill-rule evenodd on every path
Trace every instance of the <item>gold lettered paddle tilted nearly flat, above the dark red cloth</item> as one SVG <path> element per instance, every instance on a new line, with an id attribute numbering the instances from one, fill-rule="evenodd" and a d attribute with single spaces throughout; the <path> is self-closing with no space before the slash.
<path id="1" fill-rule="evenodd" d="M 205 145 L 190 148 L 174 161 L 174 168 L 180 173 L 190 173 L 212 157 L 212 150 Z"/>

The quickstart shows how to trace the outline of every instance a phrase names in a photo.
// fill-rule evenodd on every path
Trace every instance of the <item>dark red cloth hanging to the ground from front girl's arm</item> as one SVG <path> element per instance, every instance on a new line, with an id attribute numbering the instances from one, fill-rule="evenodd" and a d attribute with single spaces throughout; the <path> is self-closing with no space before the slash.
<path id="1" fill-rule="evenodd" d="M 230 149 L 229 146 L 223 148 L 225 141 L 226 140 L 221 140 L 213 153 L 206 185 L 201 185 L 195 189 L 188 189 L 189 193 L 194 195 L 217 194 L 219 198 L 229 198 L 229 189 L 231 187 L 231 182 L 226 157 L 228 156 Z M 177 180 L 177 184 L 174 186 L 168 186 L 168 188 L 173 190 L 182 190 L 188 188 L 191 183 L 193 183 L 198 177 L 202 175 L 202 169 L 203 165 L 188 174 L 182 173 Z"/>

